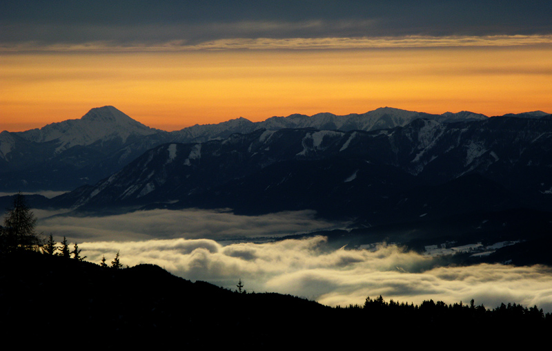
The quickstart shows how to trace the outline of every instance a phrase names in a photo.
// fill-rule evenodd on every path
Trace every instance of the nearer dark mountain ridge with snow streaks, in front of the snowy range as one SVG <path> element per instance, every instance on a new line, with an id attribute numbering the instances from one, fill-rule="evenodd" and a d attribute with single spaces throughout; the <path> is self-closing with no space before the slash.
<path id="1" fill-rule="evenodd" d="M 373 222 L 520 206 L 551 210 L 550 164 L 551 120 L 417 119 L 370 132 L 259 129 L 162 144 L 59 201 L 102 209 L 170 202 L 250 214 L 316 209 Z"/>

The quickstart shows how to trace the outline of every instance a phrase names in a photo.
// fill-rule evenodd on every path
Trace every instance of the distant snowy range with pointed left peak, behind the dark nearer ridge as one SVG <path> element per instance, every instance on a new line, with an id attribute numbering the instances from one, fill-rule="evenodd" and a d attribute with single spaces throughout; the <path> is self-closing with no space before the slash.
<path id="1" fill-rule="evenodd" d="M 549 116 L 530 114 L 537 120 Z M 257 129 L 311 128 L 335 133 L 383 131 L 406 126 L 420 118 L 440 125 L 489 120 L 489 117 L 467 111 L 431 115 L 385 107 L 364 114 L 290 115 L 270 117 L 263 122 L 237 118 L 166 132 L 144 126 L 113 106 L 104 106 L 92 108 L 78 120 L 48 124 L 25 132 L 0 133 L 0 190 L 68 190 L 83 184 L 95 184 L 121 170 L 148 149 L 166 143 L 224 140 L 234 133 L 252 133 Z M 420 160 L 424 160 L 424 155 L 426 153 L 420 153 Z M 415 167 L 419 168 L 420 164 Z"/>

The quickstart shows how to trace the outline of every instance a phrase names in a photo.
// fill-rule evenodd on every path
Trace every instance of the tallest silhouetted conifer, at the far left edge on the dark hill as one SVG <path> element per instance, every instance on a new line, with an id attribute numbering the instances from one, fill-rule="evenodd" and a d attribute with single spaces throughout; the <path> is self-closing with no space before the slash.
<path id="1" fill-rule="evenodd" d="M 21 192 L 13 200 L 12 208 L 8 209 L 1 230 L 1 249 L 5 252 L 17 250 L 38 249 L 43 241 L 34 233 L 37 218 L 34 217 Z"/>

